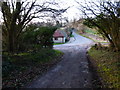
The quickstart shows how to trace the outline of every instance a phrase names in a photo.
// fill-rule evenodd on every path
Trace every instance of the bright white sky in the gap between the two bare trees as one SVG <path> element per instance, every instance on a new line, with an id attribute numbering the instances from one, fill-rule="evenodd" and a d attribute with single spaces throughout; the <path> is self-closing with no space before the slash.
<path id="1" fill-rule="evenodd" d="M 43 0 L 45 1 L 45 0 Z M 46 1 L 50 1 L 50 0 L 46 0 Z M 53 1 L 53 0 L 51 0 Z M 59 3 L 60 8 L 68 8 L 70 7 L 65 13 L 63 13 L 63 17 L 67 17 L 68 20 L 73 20 L 74 18 L 79 19 L 80 18 L 80 11 L 76 8 L 78 6 L 78 4 L 76 3 L 76 1 L 84 1 L 84 0 L 54 0 L 57 3 Z M 40 0 L 38 0 L 38 2 L 40 2 Z M 34 19 L 37 20 L 37 19 Z"/>

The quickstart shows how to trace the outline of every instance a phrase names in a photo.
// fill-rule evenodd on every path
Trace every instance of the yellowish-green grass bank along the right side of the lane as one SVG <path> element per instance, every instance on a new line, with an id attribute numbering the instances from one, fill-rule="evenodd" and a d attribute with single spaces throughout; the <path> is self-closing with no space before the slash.
<path id="1" fill-rule="evenodd" d="M 120 88 L 120 52 L 91 48 L 88 54 L 95 63 L 99 76 L 102 78 L 103 88 Z"/>

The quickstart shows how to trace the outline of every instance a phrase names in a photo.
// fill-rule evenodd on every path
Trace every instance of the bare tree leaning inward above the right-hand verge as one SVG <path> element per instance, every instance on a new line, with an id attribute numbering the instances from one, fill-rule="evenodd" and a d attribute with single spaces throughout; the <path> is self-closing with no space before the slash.
<path id="1" fill-rule="evenodd" d="M 79 10 L 87 17 L 84 24 L 97 27 L 98 32 L 106 37 L 111 46 L 120 50 L 120 1 L 85 2 Z"/>

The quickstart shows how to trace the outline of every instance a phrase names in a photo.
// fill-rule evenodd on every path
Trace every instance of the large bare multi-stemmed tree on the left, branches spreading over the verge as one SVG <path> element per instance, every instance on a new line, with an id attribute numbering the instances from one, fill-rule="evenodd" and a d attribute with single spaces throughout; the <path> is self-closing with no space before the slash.
<path id="1" fill-rule="evenodd" d="M 19 2 L 16 0 L 2 2 L 1 8 L 4 20 L 2 34 L 7 50 L 13 53 L 17 49 L 19 36 L 31 20 L 40 17 L 44 18 L 45 13 L 48 12 L 50 12 L 50 15 L 59 16 L 67 10 L 51 7 L 51 5 L 56 4 L 55 2 L 37 4 L 36 0 L 31 2 L 23 0 L 19 0 Z"/>

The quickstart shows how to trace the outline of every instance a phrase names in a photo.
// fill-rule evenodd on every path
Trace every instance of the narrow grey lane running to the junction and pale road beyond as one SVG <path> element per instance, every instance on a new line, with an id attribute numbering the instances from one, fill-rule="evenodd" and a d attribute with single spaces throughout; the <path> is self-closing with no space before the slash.
<path id="1" fill-rule="evenodd" d="M 33 81 L 28 88 L 89 88 L 89 72 L 86 51 L 93 41 L 73 32 L 75 40 L 55 45 L 54 49 L 64 52 L 62 60 L 45 75 Z"/>

